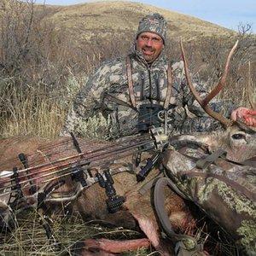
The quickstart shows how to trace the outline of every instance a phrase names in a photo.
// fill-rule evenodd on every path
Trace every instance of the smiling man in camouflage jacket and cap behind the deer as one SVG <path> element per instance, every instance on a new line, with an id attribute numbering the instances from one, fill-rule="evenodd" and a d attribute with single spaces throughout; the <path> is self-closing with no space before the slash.
<path id="1" fill-rule="evenodd" d="M 183 61 L 171 66 L 164 53 L 165 44 L 164 17 L 160 14 L 143 17 L 134 49 L 128 56 L 105 61 L 96 70 L 73 102 L 61 135 L 73 131 L 84 136 L 83 124 L 98 113 L 102 113 L 105 119 L 110 117 L 107 131 L 110 138 L 137 134 L 147 131 L 150 125 L 163 125 L 163 109 L 168 113 L 170 136 L 222 128 L 195 102 L 184 77 Z M 205 97 L 207 91 L 203 86 L 194 85 Z M 214 101 L 210 107 L 216 112 L 222 111 L 225 116 L 230 116 L 234 108 L 230 103 Z M 233 112 L 233 118 L 239 114 L 243 116 L 242 113 L 240 110 L 237 114 Z M 252 123 L 250 118 L 249 122 Z"/>

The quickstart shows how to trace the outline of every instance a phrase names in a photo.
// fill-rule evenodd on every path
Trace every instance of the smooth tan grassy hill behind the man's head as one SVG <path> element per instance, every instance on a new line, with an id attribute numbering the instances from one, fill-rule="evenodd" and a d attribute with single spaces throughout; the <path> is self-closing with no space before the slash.
<path id="1" fill-rule="evenodd" d="M 168 37 L 172 39 L 178 39 L 180 36 L 184 40 L 212 36 L 230 38 L 236 35 L 236 32 L 222 26 L 143 3 L 108 1 L 37 7 L 47 10 L 49 12 L 47 19 L 54 21 L 59 28 L 67 29 L 67 32 L 77 40 L 88 41 L 96 35 L 105 38 L 117 34 L 120 37 L 134 33 L 137 30 L 138 20 L 143 15 L 156 12 L 165 16 L 168 24 Z"/>

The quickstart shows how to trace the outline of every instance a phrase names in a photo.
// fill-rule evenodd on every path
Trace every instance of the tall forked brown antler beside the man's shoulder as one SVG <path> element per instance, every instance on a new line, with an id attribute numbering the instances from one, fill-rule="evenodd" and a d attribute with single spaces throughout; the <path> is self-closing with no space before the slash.
<path id="1" fill-rule="evenodd" d="M 231 56 L 233 55 L 233 53 L 234 53 L 234 51 L 236 49 L 237 44 L 238 44 L 238 41 L 236 41 L 235 46 L 230 51 L 230 55 L 228 57 L 228 60 L 226 62 L 226 66 L 225 66 L 225 69 L 224 69 L 224 75 L 222 76 L 222 78 L 220 79 L 218 85 L 214 89 L 215 91 L 217 91 L 217 92 L 215 92 L 215 95 L 218 93 L 218 90 L 220 90 L 220 89 L 217 89 L 217 87 L 218 88 L 220 88 L 220 87 L 222 88 L 223 87 L 222 84 L 224 84 L 223 82 L 225 81 L 226 76 L 227 76 L 227 72 L 228 72 L 228 68 L 229 68 L 229 64 L 230 64 L 230 59 L 231 59 Z M 185 56 L 185 53 L 184 53 L 182 39 L 180 39 L 180 48 L 181 48 L 182 56 L 183 56 L 183 62 L 184 62 L 184 69 L 185 69 L 186 79 L 188 81 L 189 89 L 191 90 L 191 93 L 195 96 L 195 100 L 201 105 L 201 108 L 203 108 L 205 110 L 205 112 L 208 113 L 213 119 L 218 120 L 220 123 L 222 123 L 225 126 L 233 125 L 233 121 L 231 119 L 227 119 L 227 118 L 224 117 L 224 115 L 222 115 L 220 113 L 217 113 L 217 112 L 214 112 L 211 108 L 209 108 L 208 105 L 207 105 L 207 103 L 209 101 L 206 102 L 206 100 L 201 99 L 201 96 L 195 90 L 195 87 L 192 84 L 192 80 L 191 80 L 190 75 L 189 75 L 189 67 L 188 67 L 188 62 L 187 62 L 187 59 L 186 59 L 186 56 Z M 210 95 L 213 95 L 213 94 L 214 93 L 210 93 Z M 215 95 L 213 95 L 213 96 L 215 96 Z"/>

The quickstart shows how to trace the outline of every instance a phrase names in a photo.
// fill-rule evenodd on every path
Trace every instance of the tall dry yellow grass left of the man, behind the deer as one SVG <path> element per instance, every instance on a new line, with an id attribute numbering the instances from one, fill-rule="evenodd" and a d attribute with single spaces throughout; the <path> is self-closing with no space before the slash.
<path id="1" fill-rule="evenodd" d="M 62 88 L 49 91 L 47 86 L 17 88 L 15 83 L 3 83 L 0 108 L 1 137 L 58 137 L 73 97 L 86 77 L 70 75 Z"/>

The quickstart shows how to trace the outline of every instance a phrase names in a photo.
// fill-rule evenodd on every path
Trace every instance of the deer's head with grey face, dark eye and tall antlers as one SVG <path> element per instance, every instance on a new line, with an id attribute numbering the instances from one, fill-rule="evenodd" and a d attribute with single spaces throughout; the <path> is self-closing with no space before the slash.
<path id="1" fill-rule="evenodd" d="M 221 124 L 224 125 L 224 131 L 215 131 L 207 134 L 194 134 L 194 135 L 183 135 L 178 138 L 178 140 L 192 140 L 198 143 L 205 143 L 209 147 L 210 151 L 215 151 L 218 148 L 223 148 L 227 151 L 227 156 L 230 160 L 242 161 L 247 160 L 248 158 L 253 157 L 256 154 L 256 129 L 252 126 L 247 126 L 243 120 L 238 119 L 236 121 L 232 119 L 228 119 L 224 117 L 224 115 L 220 113 L 216 113 L 212 111 L 211 108 L 208 107 L 208 103 L 212 100 L 214 96 L 218 94 L 220 90 L 224 88 L 226 78 L 228 75 L 230 60 L 232 55 L 234 54 L 238 41 L 230 50 L 230 54 L 228 55 L 224 73 L 222 77 L 219 79 L 218 84 L 212 90 L 212 92 L 205 98 L 202 99 L 201 96 L 195 90 L 195 87 L 192 84 L 192 80 L 189 75 L 189 67 L 188 61 L 186 59 L 182 41 L 180 41 L 180 47 L 183 56 L 184 69 L 186 79 L 189 84 L 189 89 L 191 93 L 195 96 L 195 99 L 201 107 L 204 109 L 206 113 L 208 113 L 213 119 L 218 120 Z M 249 79 L 248 79 L 248 98 L 253 109 L 256 109 L 256 104 L 253 102 L 252 98 L 252 81 L 250 79 L 250 66 L 249 66 Z M 252 111 L 253 113 L 254 111 Z"/>

